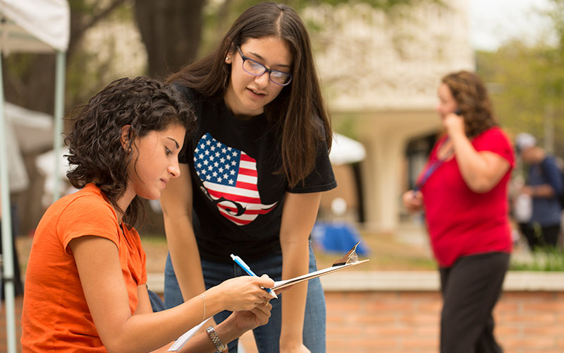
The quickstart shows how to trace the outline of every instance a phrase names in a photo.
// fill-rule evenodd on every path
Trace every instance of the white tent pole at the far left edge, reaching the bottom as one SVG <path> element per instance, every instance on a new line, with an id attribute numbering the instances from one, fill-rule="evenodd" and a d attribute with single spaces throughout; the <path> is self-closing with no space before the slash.
<path id="1" fill-rule="evenodd" d="M 2 54 L 0 52 L 0 67 Z M 10 189 L 8 183 L 8 154 L 6 152 L 6 114 L 4 114 L 4 78 L 0 70 L 0 182 L 2 203 L 2 282 L 4 282 L 4 304 L 6 308 L 7 352 L 16 353 L 16 314 L 13 284 L 13 239 Z M 1 297 L 1 294 L 0 294 Z"/>

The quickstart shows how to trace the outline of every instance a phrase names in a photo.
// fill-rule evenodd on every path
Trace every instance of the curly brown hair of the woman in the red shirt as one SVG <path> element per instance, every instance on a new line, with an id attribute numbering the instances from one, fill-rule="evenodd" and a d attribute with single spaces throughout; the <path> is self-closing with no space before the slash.
<path id="1" fill-rule="evenodd" d="M 441 80 L 452 93 L 461 116 L 464 116 L 466 135 L 478 136 L 498 123 L 494 116 L 486 86 L 476 73 L 458 71 Z"/>

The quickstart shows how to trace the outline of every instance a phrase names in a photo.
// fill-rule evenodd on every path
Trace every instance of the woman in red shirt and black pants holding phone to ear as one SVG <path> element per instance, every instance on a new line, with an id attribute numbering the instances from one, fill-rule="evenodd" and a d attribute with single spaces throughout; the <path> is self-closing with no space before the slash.
<path id="1" fill-rule="evenodd" d="M 492 311 L 511 251 L 507 184 L 514 153 L 479 76 L 450 73 L 438 95 L 445 133 L 403 204 L 424 211 L 439 263 L 441 352 L 501 352 Z"/>

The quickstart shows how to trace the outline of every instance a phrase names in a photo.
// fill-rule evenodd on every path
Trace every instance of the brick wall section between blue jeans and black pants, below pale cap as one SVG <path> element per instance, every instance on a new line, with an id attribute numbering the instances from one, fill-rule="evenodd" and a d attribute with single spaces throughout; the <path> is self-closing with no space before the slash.
<path id="1" fill-rule="evenodd" d="M 438 352 L 440 298 L 428 292 L 327 292 L 327 352 Z"/>

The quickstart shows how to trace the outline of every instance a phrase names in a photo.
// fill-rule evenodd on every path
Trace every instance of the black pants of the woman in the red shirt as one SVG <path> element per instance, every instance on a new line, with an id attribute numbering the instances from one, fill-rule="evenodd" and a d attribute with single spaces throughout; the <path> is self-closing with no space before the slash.
<path id="1" fill-rule="evenodd" d="M 440 268 L 443 310 L 441 353 L 501 353 L 494 337 L 496 305 L 509 266 L 508 253 L 465 256 Z"/>

